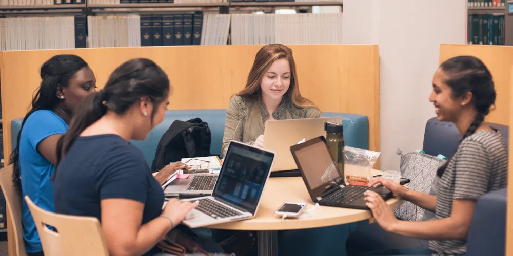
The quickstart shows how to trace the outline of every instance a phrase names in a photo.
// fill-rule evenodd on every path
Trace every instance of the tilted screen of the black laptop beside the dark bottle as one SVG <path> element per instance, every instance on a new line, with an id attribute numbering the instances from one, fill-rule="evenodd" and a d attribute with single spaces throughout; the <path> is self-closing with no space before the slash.
<path id="1" fill-rule="evenodd" d="M 300 167 L 309 190 L 341 181 L 341 175 L 331 158 L 326 143 L 320 138 L 293 146 L 293 155 Z"/>

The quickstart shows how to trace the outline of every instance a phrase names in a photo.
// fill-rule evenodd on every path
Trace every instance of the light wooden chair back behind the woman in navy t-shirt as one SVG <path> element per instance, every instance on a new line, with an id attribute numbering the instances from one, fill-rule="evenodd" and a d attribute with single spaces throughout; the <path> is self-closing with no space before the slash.
<path id="1" fill-rule="evenodd" d="M 28 196 L 25 196 L 25 201 L 36 224 L 45 255 L 109 255 L 98 219 L 55 214 L 41 209 Z"/>

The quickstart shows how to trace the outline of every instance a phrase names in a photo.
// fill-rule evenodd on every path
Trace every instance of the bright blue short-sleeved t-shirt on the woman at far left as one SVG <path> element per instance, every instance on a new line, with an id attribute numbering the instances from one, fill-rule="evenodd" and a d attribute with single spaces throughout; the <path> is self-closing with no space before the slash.
<path id="1" fill-rule="evenodd" d="M 37 151 L 37 144 L 51 135 L 63 134 L 67 130 L 68 125 L 53 111 L 38 110 L 27 118 L 19 138 L 19 170 L 23 196 L 29 196 L 37 206 L 48 211 L 53 211 L 52 177 L 55 166 Z M 25 200 L 22 200 L 22 223 L 27 252 L 42 251 L 39 234 Z"/>

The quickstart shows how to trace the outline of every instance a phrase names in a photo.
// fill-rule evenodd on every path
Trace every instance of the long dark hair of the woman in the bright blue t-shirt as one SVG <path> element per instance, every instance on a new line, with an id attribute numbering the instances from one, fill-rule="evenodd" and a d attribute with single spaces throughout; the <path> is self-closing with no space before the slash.
<path id="1" fill-rule="evenodd" d="M 25 115 L 22 121 L 22 128 L 19 130 L 16 139 L 17 144 L 11 156 L 10 163 L 13 164 L 13 182 L 18 188 L 21 188 L 20 169 L 19 169 L 19 140 L 21 138 L 23 126 L 27 118 L 38 110 L 52 110 L 61 99 L 57 98 L 57 88 L 59 86 L 68 87 L 69 80 L 76 72 L 82 68 L 88 67 L 86 61 L 76 55 L 55 55 L 47 60 L 41 66 L 40 76 L 41 85 L 36 89 L 32 98 L 31 110 Z"/>

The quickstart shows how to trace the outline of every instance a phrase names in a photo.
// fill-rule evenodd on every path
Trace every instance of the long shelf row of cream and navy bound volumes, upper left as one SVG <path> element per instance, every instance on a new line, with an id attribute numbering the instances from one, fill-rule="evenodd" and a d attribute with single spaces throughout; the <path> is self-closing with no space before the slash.
<path id="1" fill-rule="evenodd" d="M 98 15 L 0 19 L 0 50 L 341 44 L 341 13 Z"/>

